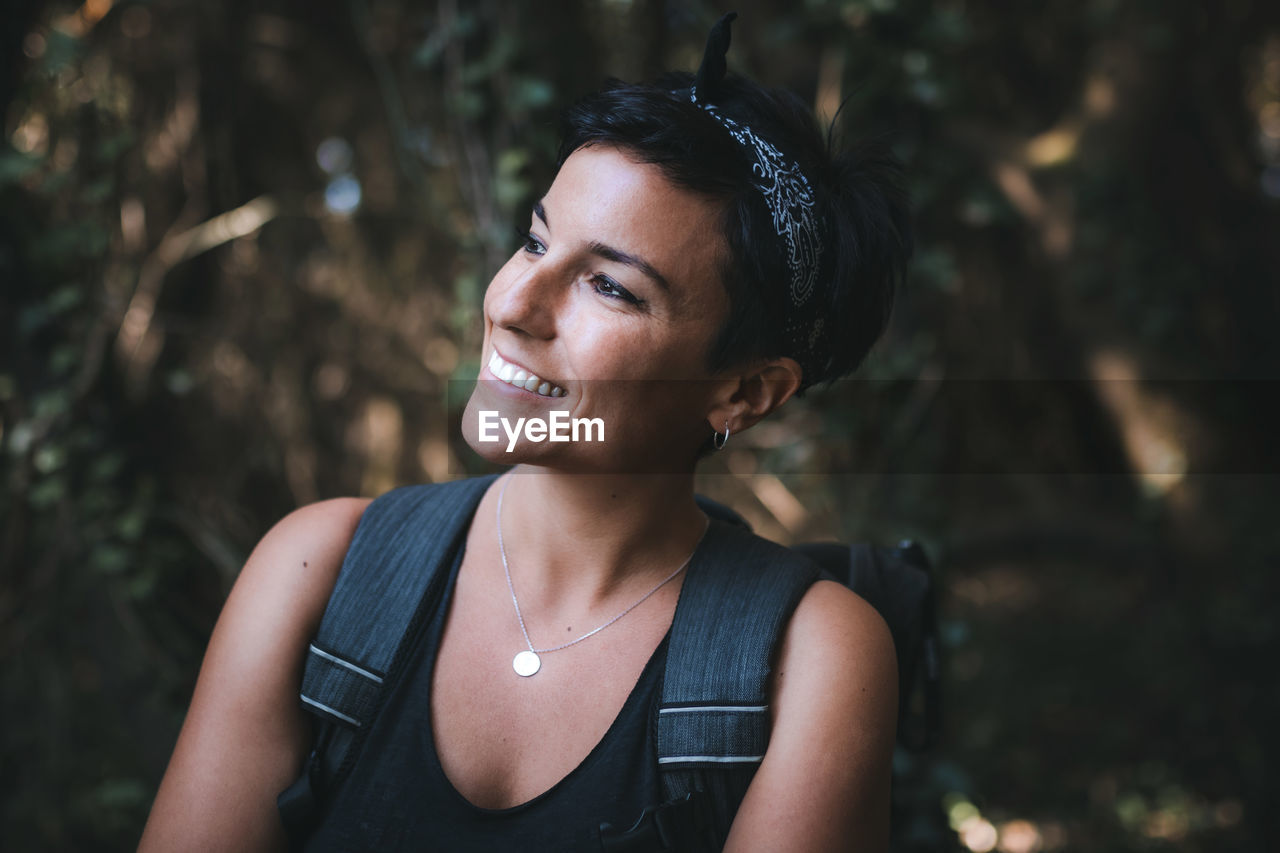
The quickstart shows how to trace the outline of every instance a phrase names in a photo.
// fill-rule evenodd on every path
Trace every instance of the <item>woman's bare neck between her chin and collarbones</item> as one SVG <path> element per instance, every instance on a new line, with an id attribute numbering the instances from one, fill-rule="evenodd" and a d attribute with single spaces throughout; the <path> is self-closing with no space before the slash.
<path id="1" fill-rule="evenodd" d="M 507 475 L 502 534 L 521 602 L 579 610 L 646 588 L 694 551 L 707 517 L 687 474 L 590 475 L 520 466 Z M 643 589 L 641 589 L 643 592 Z"/>

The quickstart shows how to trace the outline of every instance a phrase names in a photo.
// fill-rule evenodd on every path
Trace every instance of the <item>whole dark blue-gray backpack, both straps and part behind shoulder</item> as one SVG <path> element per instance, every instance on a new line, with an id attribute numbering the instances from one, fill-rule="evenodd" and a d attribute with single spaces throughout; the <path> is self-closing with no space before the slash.
<path id="1" fill-rule="evenodd" d="M 326 793 L 349 772 L 403 662 L 435 611 L 449 561 L 495 476 L 388 492 L 365 510 L 310 644 L 301 702 L 316 721 L 302 775 L 278 798 L 300 848 Z M 768 747 L 769 657 L 791 611 L 819 576 L 861 594 L 893 635 L 900 740 L 938 729 L 933 590 L 918 546 L 819 543 L 785 548 L 750 533 L 732 510 L 699 497 L 712 519 L 672 620 L 658 707 L 666 802 L 632 826 L 600 826 L 604 850 L 718 850 Z M 923 662 L 923 667 L 920 663 Z M 909 725 L 924 684 L 922 725 Z"/>

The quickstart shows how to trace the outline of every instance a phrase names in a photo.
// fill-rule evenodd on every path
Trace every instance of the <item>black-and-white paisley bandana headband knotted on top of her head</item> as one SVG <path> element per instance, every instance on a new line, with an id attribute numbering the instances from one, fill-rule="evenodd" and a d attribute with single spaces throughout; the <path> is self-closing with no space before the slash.
<path id="1" fill-rule="evenodd" d="M 813 298 L 818 270 L 822 266 L 822 233 L 814 211 L 813 188 L 797 163 L 788 161 L 777 147 L 756 136 L 751 128 L 724 115 L 705 99 L 698 99 L 699 87 L 703 87 L 704 92 L 712 91 L 724 77 L 730 24 L 735 18 L 737 13 L 731 12 L 712 27 L 696 82 L 689 90 L 689 100 L 719 122 L 753 160 L 751 174 L 755 177 L 755 187 L 764 196 L 764 204 L 773 219 L 773 231 L 786 245 L 787 269 L 791 274 L 791 305 L 787 311 L 785 337 L 792 350 L 790 355 L 794 355 L 809 374 L 817 366 L 814 362 L 820 359 L 817 343 L 822 338 L 823 325 L 817 300 Z"/>

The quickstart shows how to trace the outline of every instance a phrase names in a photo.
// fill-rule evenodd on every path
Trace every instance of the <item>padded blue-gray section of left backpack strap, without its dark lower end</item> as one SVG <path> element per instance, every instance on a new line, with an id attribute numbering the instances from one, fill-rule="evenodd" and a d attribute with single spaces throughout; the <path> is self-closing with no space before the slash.
<path id="1" fill-rule="evenodd" d="M 308 711 L 353 729 L 372 721 L 402 640 L 493 479 L 406 487 L 369 505 L 307 653 Z"/>

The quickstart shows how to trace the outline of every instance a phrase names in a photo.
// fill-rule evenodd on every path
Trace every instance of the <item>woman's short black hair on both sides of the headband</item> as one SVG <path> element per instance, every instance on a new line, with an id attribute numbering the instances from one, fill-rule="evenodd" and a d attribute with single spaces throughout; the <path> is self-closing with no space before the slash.
<path id="1" fill-rule="evenodd" d="M 580 147 L 617 146 L 658 167 L 676 186 L 724 202 L 719 223 L 728 250 L 722 279 L 730 314 L 712 351 L 713 370 L 756 357 L 791 356 L 801 388 L 851 373 L 888 325 L 893 292 L 911 254 L 910 205 L 899 161 L 863 145 L 832 150 L 832 134 L 795 95 L 730 74 L 716 108 L 794 160 L 808 178 L 822 229 L 814 351 L 790 352 L 786 252 L 764 196 L 751 178 L 751 155 L 722 124 L 690 101 L 692 74 L 652 85 L 609 81 L 564 114 L 557 168 Z"/>

